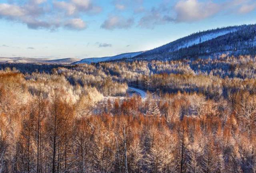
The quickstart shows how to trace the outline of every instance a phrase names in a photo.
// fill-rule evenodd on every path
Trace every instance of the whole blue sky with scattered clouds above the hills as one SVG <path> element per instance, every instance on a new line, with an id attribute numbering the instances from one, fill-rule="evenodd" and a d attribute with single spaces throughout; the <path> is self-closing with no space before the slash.
<path id="1" fill-rule="evenodd" d="M 82 59 L 146 51 L 255 19 L 256 0 L 0 0 L 0 57 Z"/>

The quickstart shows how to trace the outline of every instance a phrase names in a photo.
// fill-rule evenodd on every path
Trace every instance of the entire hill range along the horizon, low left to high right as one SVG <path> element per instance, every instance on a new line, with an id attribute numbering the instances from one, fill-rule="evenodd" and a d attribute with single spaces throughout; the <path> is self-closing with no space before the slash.
<path id="1" fill-rule="evenodd" d="M 256 25 L 229 26 L 193 33 L 149 51 L 122 53 L 109 57 L 87 59 L 39 59 L 0 57 L 0 63 L 90 64 L 106 61 L 214 58 L 226 55 L 256 55 Z"/>

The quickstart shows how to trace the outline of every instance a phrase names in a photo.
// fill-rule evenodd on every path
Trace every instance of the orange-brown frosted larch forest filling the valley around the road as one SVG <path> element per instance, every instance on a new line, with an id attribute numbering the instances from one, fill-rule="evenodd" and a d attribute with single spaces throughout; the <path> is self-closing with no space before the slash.
<path id="1" fill-rule="evenodd" d="M 256 172 L 256 57 L 0 69 L 0 173 Z"/>

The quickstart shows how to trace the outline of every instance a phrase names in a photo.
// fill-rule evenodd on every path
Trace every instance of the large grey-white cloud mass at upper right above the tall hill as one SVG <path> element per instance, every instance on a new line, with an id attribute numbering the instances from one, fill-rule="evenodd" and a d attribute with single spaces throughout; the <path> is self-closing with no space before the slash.
<path id="1" fill-rule="evenodd" d="M 255 0 L 224 0 L 220 3 L 212 0 L 179 0 L 173 7 L 166 3 L 146 11 L 138 26 L 154 28 L 168 22 L 190 23 L 211 18 L 221 12 L 223 15 L 225 12 L 247 14 L 253 10 L 256 10 Z"/>

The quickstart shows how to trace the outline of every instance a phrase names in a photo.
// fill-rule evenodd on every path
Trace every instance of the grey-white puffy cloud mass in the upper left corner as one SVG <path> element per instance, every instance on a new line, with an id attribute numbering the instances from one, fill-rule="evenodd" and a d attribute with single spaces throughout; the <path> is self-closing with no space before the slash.
<path id="1" fill-rule="evenodd" d="M 86 29 L 87 25 L 80 18 L 82 12 L 100 12 L 100 7 L 94 6 L 90 0 L 53 1 L 53 6 L 47 0 L 28 0 L 18 5 L 0 3 L 0 18 L 26 24 L 31 29 Z M 56 10 L 58 9 L 58 10 Z"/>

